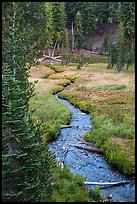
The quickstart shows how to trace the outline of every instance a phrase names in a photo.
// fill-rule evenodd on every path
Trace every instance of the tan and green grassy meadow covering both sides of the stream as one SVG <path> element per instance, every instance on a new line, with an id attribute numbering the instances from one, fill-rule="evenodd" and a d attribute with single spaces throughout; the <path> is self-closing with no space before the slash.
<path id="1" fill-rule="evenodd" d="M 60 125 L 71 119 L 71 112 L 52 94 L 59 94 L 81 110 L 90 113 L 92 131 L 83 138 L 105 152 L 106 160 L 125 175 L 135 173 L 135 75 L 134 67 L 120 73 L 107 69 L 107 63 L 37 65 L 30 70 L 30 81 L 38 80 L 30 105 L 34 118 L 45 123 L 44 138 L 56 139 Z M 48 80 L 44 79 L 47 78 Z"/>

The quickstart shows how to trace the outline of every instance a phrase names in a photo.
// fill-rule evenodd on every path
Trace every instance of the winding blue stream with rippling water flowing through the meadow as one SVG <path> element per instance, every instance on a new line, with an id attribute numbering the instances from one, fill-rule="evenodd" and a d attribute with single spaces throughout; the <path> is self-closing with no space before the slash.
<path id="1" fill-rule="evenodd" d="M 62 129 L 58 139 L 49 144 L 49 150 L 55 155 L 56 160 L 69 166 L 72 173 L 81 174 L 86 181 L 130 181 L 130 183 L 121 186 L 101 186 L 101 192 L 104 197 L 112 193 L 112 199 L 117 202 L 135 202 L 134 180 L 114 170 L 102 156 L 75 147 L 75 145 L 84 145 L 79 144 L 79 139 L 85 132 L 91 130 L 90 115 L 80 111 L 67 100 L 59 98 L 58 94 L 55 94 L 55 97 L 66 104 L 73 112 L 72 121 L 70 122 L 72 127 Z M 89 185 L 88 189 L 95 187 L 100 188 L 97 185 Z"/>

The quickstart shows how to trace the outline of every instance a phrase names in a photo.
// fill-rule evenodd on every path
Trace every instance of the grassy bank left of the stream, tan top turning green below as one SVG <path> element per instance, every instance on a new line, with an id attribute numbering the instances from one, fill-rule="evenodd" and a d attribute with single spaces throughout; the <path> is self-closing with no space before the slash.
<path id="1" fill-rule="evenodd" d="M 30 101 L 31 109 L 35 109 L 34 120 L 42 122 L 45 133 L 44 140 L 51 141 L 57 138 L 60 126 L 67 124 L 71 119 L 71 111 L 68 107 L 58 101 L 52 93 L 63 89 L 68 81 L 53 80 L 48 82 L 39 80 L 35 87 L 36 95 Z"/>

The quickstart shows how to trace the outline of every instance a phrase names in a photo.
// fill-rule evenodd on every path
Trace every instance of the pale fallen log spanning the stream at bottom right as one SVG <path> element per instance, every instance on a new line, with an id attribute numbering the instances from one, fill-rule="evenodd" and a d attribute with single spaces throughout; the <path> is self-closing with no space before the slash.
<path id="1" fill-rule="evenodd" d="M 130 183 L 130 181 L 121 181 L 121 182 L 104 182 L 104 183 L 100 183 L 100 182 L 90 182 L 90 181 L 85 181 L 84 184 L 85 185 L 111 185 L 111 186 L 118 186 L 118 185 L 123 185 L 123 184 L 128 184 Z"/>

